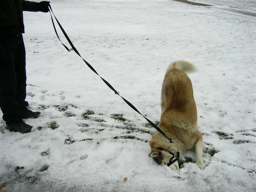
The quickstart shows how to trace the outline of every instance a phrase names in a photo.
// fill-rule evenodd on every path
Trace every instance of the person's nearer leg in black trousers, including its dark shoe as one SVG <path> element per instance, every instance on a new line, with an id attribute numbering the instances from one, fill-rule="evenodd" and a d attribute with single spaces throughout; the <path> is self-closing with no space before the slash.
<path id="1" fill-rule="evenodd" d="M 22 121 L 23 115 L 21 114 L 20 104 L 16 100 L 17 76 L 15 68 L 17 55 L 19 55 L 17 49 L 19 41 L 20 38 L 17 35 L 0 36 L 0 108 L 3 113 L 2 118 L 6 121 L 6 128 L 9 131 L 28 133 L 32 126 Z M 24 85 L 24 83 L 20 84 Z M 18 89 L 22 89 L 20 88 L 22 86 L 18 87 Z M 21 92 L 24 93 L 24 91 Z"/>

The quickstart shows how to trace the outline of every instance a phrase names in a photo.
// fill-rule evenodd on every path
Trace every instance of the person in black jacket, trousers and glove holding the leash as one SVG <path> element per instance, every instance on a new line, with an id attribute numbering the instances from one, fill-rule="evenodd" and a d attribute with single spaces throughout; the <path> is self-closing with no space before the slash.
<path id="1" fill-rule="evenodd" d="M 23 11 L 49 11 L 49 1 L 0 1 L 0 108 L 9 131 L 28 133 L 32 126 L 23 119 L 37 118 L 26 99 L 26 52 L 22 33 Z"/>

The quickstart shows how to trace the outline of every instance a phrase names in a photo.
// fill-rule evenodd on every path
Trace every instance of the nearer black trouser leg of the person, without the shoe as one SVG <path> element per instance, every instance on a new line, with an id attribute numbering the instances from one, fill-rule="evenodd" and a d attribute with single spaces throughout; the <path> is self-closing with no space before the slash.
<path id="1" fill-rule="evenodd" d="M 17 78 L 15 72 L 15 56 L 17 54 L 17 35 L 0 37 L 3 56 L 0 62 L 0 108 L 6 123 L 21 120 L 20 104 L 15 99 Z"/>

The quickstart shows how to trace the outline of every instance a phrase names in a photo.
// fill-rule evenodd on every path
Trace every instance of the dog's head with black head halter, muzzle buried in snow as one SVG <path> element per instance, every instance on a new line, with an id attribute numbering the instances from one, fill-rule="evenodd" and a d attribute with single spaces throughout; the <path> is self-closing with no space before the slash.
<path id="1" fill-rule="evenodd" d="M 179 170 L 178 157 L 170 151 L 156 149 L 148 156 L 152 157 L 158 165 L 166 165 L 174 171 Z"/>

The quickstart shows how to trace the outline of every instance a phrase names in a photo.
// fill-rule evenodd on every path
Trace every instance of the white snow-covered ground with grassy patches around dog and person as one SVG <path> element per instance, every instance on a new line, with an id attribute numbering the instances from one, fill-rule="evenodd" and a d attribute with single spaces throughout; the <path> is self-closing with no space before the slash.
<path id="1" fill-rule="evenodd" d="M 50 13 L 24 12 L 27 101 L 41 116 L 26 120 L 27 134 L 0 123 L 2 191 L 256 191 L 256 17 L 212 5 L 51 1 L 81 56 L 154 122 L 169 63 L 197 66 L 189 76 L 206 168 L 188 152 L 177 172 L 148 157 L 154 128 L 64 49 Z"/>

